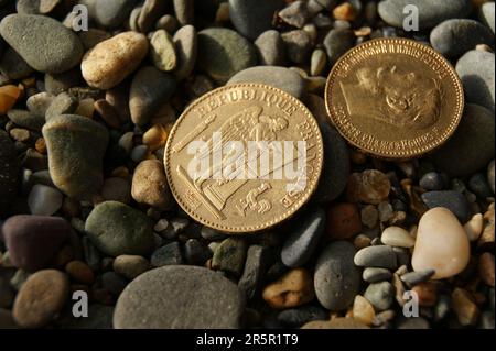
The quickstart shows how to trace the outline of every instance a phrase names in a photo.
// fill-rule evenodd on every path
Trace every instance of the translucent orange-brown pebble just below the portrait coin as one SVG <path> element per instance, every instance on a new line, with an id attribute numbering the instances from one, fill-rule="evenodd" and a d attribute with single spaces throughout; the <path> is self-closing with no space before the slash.
<path id="1" fill-rule="evenodd" d="M 347 199 L 351 202 L 379 205 L 386 201 L 391 183 L 386 174 L 377 169 L 352 173 L 347 184 Z"/>

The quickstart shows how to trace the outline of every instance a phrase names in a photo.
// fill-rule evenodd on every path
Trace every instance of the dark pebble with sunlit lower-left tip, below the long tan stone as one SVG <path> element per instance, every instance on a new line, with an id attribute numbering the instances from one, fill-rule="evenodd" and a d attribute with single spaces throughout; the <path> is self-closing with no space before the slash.
<path id="1" fill-rule="evenodd" d="M 175 78 L 153 66 L 144 66 L 134 75 L 129 91 L 132 122 L 147 124 L 157 109 L 166 102 L 176 87 Z"/>

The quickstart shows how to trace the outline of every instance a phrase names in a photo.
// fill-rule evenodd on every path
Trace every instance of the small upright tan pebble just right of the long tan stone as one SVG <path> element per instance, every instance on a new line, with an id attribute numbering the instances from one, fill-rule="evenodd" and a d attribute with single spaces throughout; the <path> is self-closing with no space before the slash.
<path id="1" fill-rule="evenodd" d="M 150 55 L 153 65 L 160 70 L 170 72 L 177 65 L 174 42 L 164 30 L 153 32 L 150 39 Z"/>

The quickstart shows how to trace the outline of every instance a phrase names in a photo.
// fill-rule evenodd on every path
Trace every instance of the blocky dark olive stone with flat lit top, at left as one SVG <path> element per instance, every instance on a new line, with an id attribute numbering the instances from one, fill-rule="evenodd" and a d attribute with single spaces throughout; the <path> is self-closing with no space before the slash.
<path id="1" fill-rule="evenodd" d="M 103 157 L 108 131 L 80 116 L 53 117 L 43 127 L 50 176 L 58 189 L 75 199 L 90 199 L 104 183 Z"/>

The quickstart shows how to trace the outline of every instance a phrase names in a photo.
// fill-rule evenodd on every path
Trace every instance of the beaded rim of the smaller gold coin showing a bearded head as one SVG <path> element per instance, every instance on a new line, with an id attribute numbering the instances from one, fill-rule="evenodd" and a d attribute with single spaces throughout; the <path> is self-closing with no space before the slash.
<path id="1" fill-rule="evenodd" d="M 417 146 L 414 149 L 409 149 L 407 151 L 380 151 L 380 150 L 374 150 L 374 149 L 367 147 L 367 145 L 360 144 L 359 141 L 354 140 L 353 136 L 347 135 L 346 132 L 342 130 L 342 127 L 338 123 L 341 118 L 338 118 L 338 117 L 334 116 L 334 113 L 332 113 L 331 90 L 332 90 L 332 86 L 334 85 L 334 83 L 336 80 L 336 77 L 335 77 L 336 73 L 339 72 L 341 67 L 343 66 L 344 61 L 347 59 L 355 52 L 360 51 L 360 50 L 363 50 L 364 47 L 367 47 L 367 46 L 375 46 L 378 43 L 403 44 L 403 45 L 408 45 L 408 46 L 414 46 L 414 47 L 417 47 L 419 50 L 423 50 L 425 52 L 430 52 L 430 54 L 432 54 L 432 56 L 434 58 L 436 58 L 436 61 L 439 63 L 441 63 L 443 65 L 443 67 L 445 67 L 446 72 L 449 73 L 450 77 L 452 78 L 452 81 L 455 85 L 455 90 L 456 90 L 456 96 L 457 96 L 457 99 L 456 99 L 457 103 L 456 103 L 456 107 L 455 107 L 455 112 L 453 113 L 455 116 L 455 118 L 452 118 L 449 127 L 445 129 L 445 131 L 443 132 L 442 136 L 440 139 L 436 139 L 435 143 L 429 143 L 427 145 Z M 418 156 L 421 156 L 421 155 L 423 155 L 425 153 L 429 153 L 429 152 L 440 147 L 455 132 L 457 125 L 460 124 L 460 121 L 462 120 L 464 106 L 465 106 L 465 96 L 464 96 L 464 92 L 463 92 L 463 85 L 462 85 L 462 81 L 461 81 L 459 75 L 456 74 L 456 70 L 451 65 L 451 63 L 446 58 L 444 58 L 440 53 L 438 53 L 435 50 L 433 50 L 431 46 L 422 44 L 422 43 L 419 43 L 419 42 L 410 40 L 410 39 L 405 39 L 405 37 L 379 37 L 379 39 L 374 39 L 374 40 L 367 41 L 365 43 L 362 43 L 362 44 L 359 44 L 359 45 L 348 50 L 342 57 L 339 57 L 339 59 L 336 62 L 336 64 L 331 69 L 331 72 L 330 72 L 330 74 L 327 76 L 327 81 L 325 83 L 324 98 L 325 98 L 324 100 L 325 100 L 325 109 L 327 111 L 327 117 L 331 119 L 332 123 L 337 129 L 339 134 L 343 135 L 343 138 L 345 138 L 348 141 L 348 143 L 351 143 L 355 147 L 358 147 L 360 151 L 363 151 L 363 152 L 365 152 L 365 153 L 367 153 L 369 155 L 373 155 L 373 156 L 376 156 L 376 157 L 384 157 L 384 158 L 410 158 L 410 157 L 418 157 Z"/>

